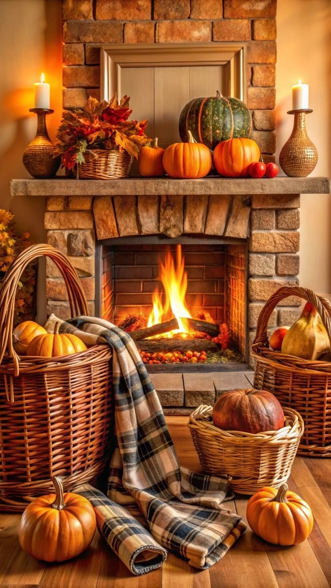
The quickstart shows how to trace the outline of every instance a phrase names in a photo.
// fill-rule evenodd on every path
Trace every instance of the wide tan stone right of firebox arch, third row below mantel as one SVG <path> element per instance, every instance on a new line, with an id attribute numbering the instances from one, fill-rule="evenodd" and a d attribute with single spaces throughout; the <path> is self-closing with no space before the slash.
<path id="1" fill-rule="evenodd" d="M 300 235 L 297 231 L 252 232 L 249 251 L 258 253 L 296 253 L 299 251 Z"/>

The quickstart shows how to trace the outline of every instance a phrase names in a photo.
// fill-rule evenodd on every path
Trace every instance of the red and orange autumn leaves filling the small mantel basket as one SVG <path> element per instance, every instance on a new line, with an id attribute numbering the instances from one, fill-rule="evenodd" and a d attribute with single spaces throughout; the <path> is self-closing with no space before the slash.
<path id="1" fill-rule="evenodd" d="M 118 103 L 115 95 L 111 102 L 99 102 L 90 96 L 83 109 L 63 112 L 54 153 L 61 156 L 63 168 L 70 171 L 85 163 L 86 151 L 93 155 L 95 149 L 117 149 L 138 159 L 139 148 L 151 139 L 144 132 L 148 121 L 129 120 L 129 100 L 123 96 Z"/>

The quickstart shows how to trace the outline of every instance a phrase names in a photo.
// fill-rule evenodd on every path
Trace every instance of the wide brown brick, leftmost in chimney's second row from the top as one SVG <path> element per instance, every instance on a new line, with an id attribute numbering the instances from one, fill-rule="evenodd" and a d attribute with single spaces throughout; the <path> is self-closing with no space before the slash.
<path id="1" fill-rule="evenodd" d="M 63 43 L 122 43 L 122 22 L 69 21 L 63 24 Z"/>

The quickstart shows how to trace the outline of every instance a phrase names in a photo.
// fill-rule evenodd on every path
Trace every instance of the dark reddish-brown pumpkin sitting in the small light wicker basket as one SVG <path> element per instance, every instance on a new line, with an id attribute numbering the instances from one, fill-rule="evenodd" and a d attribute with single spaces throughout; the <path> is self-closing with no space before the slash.
<path id="1" fill-rule="evenodd" d="M 276 431 L 284 426 L 284 412 L 271 392 L 253 388 L 229 390 L 215 402 L 213 424 L 225 431 Z"/>

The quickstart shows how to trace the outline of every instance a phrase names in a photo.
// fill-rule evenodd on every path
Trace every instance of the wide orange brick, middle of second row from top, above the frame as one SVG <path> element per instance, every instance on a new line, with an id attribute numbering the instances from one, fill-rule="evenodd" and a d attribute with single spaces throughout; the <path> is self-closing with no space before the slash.
<path id="1" fill-rule="evenodd" d="M 212 40 L 212 24 L 209 21 L 165 21 L 156 24 L 156 42 L 206 43 Z"/>

